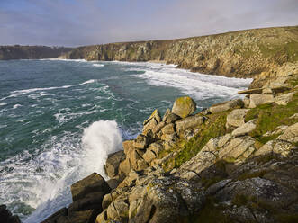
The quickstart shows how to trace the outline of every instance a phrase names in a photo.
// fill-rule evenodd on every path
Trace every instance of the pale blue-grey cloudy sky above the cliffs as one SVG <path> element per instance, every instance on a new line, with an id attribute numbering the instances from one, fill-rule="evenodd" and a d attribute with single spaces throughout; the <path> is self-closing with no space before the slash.
<path id="1" fill-rule="evenodd" d="M 85 46 L 298 25 L 298 0 L 0 0 L 0 45 Z"/>

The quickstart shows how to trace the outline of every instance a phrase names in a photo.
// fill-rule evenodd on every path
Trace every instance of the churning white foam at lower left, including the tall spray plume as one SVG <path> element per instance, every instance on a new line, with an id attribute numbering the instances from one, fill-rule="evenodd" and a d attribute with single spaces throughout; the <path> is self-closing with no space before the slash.
<path id="1" fill-rule="evenodd" d="M 25 206 L 36 209 L 24 223 L 41 222 L 71 202 L 72 183 L 93 172 L 106 177 L 105 159 L 121 148 L 122 135 L 112 120 L 95 121 L 81 140 L 71 132 L 52 137 L 34 154 L 23 151 L 0 163 L 0 203 L 19 201 L 16 213 Z"/>

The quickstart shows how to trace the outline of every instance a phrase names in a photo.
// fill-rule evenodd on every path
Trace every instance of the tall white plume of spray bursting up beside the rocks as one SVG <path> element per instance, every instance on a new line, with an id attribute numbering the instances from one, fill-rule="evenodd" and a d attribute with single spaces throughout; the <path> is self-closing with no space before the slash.
<path id="1" fill-rule="evenodd" d="M 86 171 L 106 177 L 104 163 L 108 155 L 122 148 L 122 134 L 114 120 L 99 120 L 84 129 L 82 138 L 86 148 Z"/>

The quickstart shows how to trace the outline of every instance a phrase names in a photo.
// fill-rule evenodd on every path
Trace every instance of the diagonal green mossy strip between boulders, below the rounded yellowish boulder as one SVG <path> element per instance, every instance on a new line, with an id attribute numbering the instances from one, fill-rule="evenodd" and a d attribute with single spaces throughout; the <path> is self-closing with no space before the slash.
<path id="1" fill-rule="evenodd" d="M 208 115 L 209 120 L 206 121 L 194 138 L 185 143 L 181 151 L 175 157 L 175 167 L 179 167 L 186 161 L 194 157 L 211 139 L 222 136 L 227 133 L 225 127 L 227 114 L 229 112 L 221 112 Z"/>

